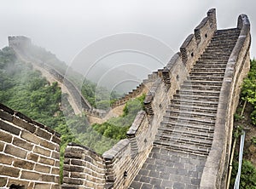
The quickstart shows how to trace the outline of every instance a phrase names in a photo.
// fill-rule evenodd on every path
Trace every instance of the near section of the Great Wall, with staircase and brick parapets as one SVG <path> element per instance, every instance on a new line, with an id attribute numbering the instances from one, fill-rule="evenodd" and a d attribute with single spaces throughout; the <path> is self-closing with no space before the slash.
<path id="1" fill-rule="evenodd" d="M 150 75 L 146 111 L 138 112 L 127 139 L 102 155 L 67 146 L 61 186 L 60 135 L 1 106 L 0 187 L 226 188 L 233 116 L 249 71 L 250 43 L 247 15 L 238 17 L 236 28 L 217 30 L 210 9 L 180 52 Z"/>

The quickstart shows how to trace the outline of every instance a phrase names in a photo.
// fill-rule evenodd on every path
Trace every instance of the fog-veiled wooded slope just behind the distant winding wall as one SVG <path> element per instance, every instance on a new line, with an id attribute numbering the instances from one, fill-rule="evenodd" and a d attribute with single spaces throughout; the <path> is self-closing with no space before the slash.
<path id="1" fill-rule="evenodd" d="M 84 78 L 82 74 L 73 71 L 72 67 L 58 60 L 55 54 L 52 54 L 44 48 L 31 44 L 20 49 L 20 53 L 25 55 L 28 59 L 36 60 L 36 62 L 55 68 L 62 76 L 74 83 L 78 89 L 81 89 L 84 98 L 89 101 L 91 106 L 97 109 L 108 110 L 110 104 L 121 96 L 115 91 L 109 93 L 108 89 L 98 86 L 96 83 Z"/>

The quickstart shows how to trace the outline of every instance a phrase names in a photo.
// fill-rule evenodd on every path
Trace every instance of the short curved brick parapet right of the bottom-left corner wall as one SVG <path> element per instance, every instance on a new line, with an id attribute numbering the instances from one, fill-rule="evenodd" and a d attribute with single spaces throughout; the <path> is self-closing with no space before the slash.
<path id="1" fill-rule="evenodd" d="M 99 188 L 103 189 L 106 165 L 102 156 L 90 149 L 69 144 L 65 151 L 63 185 L 61 188 Z"/>

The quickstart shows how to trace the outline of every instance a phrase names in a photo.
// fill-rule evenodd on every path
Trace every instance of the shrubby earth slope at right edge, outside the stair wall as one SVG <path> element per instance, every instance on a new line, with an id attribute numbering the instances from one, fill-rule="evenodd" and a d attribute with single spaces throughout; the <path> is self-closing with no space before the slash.
<path id="1" fill-rule="evenodd" d="M 242 106 L 245 104 L 245 111 L 241 117 Z M 237 107 L 235 114 L 235 125 L 238 129 L 235 129 L 234 137 L 239 141 L 241 135 L 241 129 L 247 127 L 250 129 L 246 133 L 245 147 L 243 151 L 243 160 L 241 165 L 241 189 L 256 189 L 256 167 L 251 162 L 250 148 L 256 148 L 256 60 L 251 61 L 251 69 L 248 73 L 248 77 L 244 79 L 241 89 L 241 105 Z M 254 136 L 251 138 L 251 135 Z M 249 147 L 250 146 L 250 147 Z M 233 160 L 232 177 L 230 180 L 230 188 L 234 188 L 234 182 L 236 180 L 236 174 L 238 171 L 238 159 L 239 159 L 239 142 L 236 145 L 236 153 Z M 256 159 L 254 160 L 256 161 Z"/>

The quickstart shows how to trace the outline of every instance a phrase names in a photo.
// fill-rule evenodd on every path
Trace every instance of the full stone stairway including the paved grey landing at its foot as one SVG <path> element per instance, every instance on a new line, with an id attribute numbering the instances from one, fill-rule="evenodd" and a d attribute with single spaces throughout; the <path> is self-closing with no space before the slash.
<path id="1" fill-rule="evenodd" d="M 130 188 L 199 187 L 212 146 L 225 67 L 239 32 L 215 31 L 189 77 L 173 96 L 153 149 Z"/>

